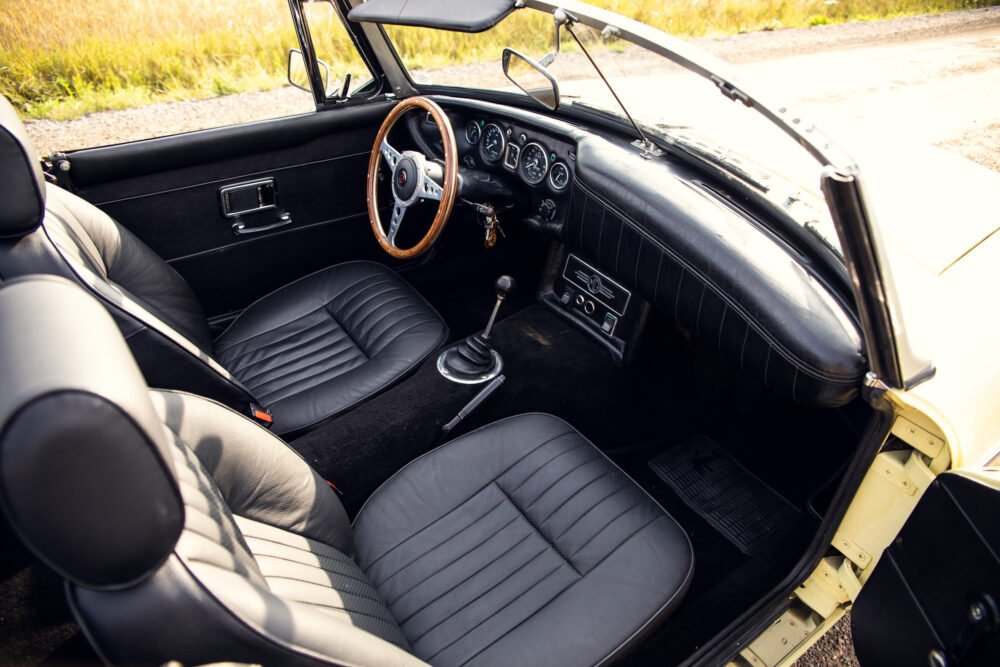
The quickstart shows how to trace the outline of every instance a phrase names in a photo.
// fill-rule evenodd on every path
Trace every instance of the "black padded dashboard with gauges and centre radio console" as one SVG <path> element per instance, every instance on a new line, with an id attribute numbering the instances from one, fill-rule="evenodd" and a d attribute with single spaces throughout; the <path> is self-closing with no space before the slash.
<path id="1" fill-rule="evenodd" d="M 543 302 L 619 343 L 638 311 L 615 304 L 646 303 L 798 402 L 857 394 L 867 361 L 849 295 L 725 179 L 548 116 L 437 101 L 463 168 L 502 182 L 520 221 L 559 242 Z"/>

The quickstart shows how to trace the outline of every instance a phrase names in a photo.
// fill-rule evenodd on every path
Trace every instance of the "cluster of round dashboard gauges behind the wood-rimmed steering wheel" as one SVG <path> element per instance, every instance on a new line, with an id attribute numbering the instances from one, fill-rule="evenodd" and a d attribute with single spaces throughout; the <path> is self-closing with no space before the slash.
<path id="1" fill-rule="evenodd" d="M 576 154 L 567 142 L 489 118 L 467 120 L 462 138 L 459 152 L 466 166 L 501 168 L 557 195 L 573 180 Z"/>

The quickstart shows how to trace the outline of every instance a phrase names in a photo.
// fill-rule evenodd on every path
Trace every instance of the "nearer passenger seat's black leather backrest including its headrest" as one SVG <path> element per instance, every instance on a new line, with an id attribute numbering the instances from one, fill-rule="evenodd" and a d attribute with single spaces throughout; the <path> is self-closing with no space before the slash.
<path id="1" fill-rule="evenodd" d="M 0 367 L 0 505 L 105 660 L 422 664 L 329 486 L 251 420 L 149 390 L 78 286 L 0 288 Z"/>

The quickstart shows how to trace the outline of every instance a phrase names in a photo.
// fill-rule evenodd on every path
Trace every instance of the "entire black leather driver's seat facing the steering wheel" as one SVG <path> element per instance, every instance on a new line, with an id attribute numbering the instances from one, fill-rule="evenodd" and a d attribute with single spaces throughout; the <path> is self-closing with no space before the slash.
<path id="1" fill-rule="evenodd" d="M 0 98 L 0 278 L 48 273 L 98 296 L 153 386 L 240 411 L 273 413 L 292 436 L 414 370 L 447 338 L 434 309 L 390 269 L 333 266 L 247 308 L 212 340 L 184 279 L 105 213 L 42 177 L 13 108 Z"/>

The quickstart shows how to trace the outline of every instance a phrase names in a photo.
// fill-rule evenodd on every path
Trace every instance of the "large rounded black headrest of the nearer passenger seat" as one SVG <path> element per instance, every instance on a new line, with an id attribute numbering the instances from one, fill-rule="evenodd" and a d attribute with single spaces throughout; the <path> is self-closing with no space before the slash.
<path id="1" fill-rule="evenodd" d="M 76 285 L 0 288 L 0 505 L 63 577 L 151 574 L 184 523 L 164 426 L 108 312 Z"/>

